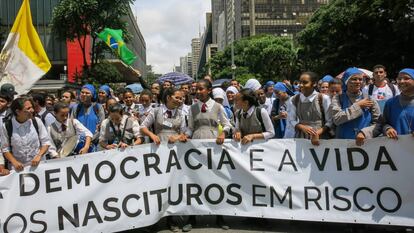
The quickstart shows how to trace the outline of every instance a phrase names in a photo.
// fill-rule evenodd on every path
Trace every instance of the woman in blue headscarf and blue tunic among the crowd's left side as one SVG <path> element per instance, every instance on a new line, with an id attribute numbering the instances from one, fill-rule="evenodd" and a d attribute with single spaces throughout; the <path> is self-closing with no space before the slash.
<path id="1" fill-rule="evenodd" d="M 92 132 L 94 145 L 99 141 L 99 126 L 105 119 L 102 105 L 94 102 L 96 96 L 95 87 L 92 84 L 85 84 L 80 92 L 79 104 L 72 111 L 72 116 Z"/>

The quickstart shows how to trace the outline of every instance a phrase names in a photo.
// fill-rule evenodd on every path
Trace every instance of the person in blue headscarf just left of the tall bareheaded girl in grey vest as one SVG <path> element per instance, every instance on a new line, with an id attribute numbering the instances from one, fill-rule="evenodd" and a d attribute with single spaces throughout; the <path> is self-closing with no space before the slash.
<path id="1" fill-rule="evenodd" d="M 273 101 L 270 116 L 275 128 L 275 138 L 283 138 L 285 136 L 287 118 L 286 102 L 293 95 L 293 92 L 282 82 L 277 82 L 273 87 L 273 91 L 277 98 Z"/>

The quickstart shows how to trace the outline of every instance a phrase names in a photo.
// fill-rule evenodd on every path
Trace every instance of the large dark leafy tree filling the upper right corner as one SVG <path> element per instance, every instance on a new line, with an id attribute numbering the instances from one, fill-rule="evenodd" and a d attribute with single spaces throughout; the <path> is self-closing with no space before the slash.
<path id="1" fill-rule="evenodd" d="M 322 74 L 380 63 L 391 75 L 412 65 L 413 32 L 412 0 L 334 0 L 299 34 L 299 59 Z"/>

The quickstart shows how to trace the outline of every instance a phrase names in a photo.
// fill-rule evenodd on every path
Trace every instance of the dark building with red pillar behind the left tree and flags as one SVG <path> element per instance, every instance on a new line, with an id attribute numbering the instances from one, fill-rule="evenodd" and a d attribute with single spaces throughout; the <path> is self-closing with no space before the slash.
<path id="1" fill-rule="evenodd" d="M 61 0 L 30 1 L 33 25 L 39 34 L 46 54 L 52 64 L 52 68 L 38 81 L 33 87 L 33 90 L 56 91 L 70 85 L 70 82 L 74 81 L 71 77 L 68 77 L 68 73 L 72 67 L 71 64 L 77 64 L 79 63 L 79 60 L 82 61 L 79 45 L 76 42 L 58 40 L 51 30 L 50 23 L 52 21 L 53 9 L 60 1 Z M 4 36 L 0 36 L 0 46 L 5 43 L 21 4 L 21 0 L 0 0 L 0 33 L 4 34 Z M 127 43 L 127 46 L 138 57 L 132 67 L 140 70 L 141 73 L 145 75 L 146 44 L 131 9 L 129 9 L 127 15 L 123 16 L 123 20 L 127 22 L 128 31 L 133 36 L 133 39 Z M 90 44 L 90 42 L 87 42 L 87 44 Z M 119 62 L 118 59 L 116 60 Z M 137 80 L 136 75 L 128 73 L 130 72 L 128 67 L 121 64 L 115 65 L 126 78 L 126 82 Z"/>

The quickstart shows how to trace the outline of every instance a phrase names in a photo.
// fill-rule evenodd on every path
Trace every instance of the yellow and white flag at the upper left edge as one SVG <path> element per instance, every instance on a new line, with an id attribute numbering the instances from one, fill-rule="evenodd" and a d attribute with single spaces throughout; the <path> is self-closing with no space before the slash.
<path id="1" fill-rule="evenodd" d="M 11 83 L 19 95 L 26 94 L 50 67 L 32 23 L 29 0 L 23 0 L 0 54 L 0 84 Z"/>

